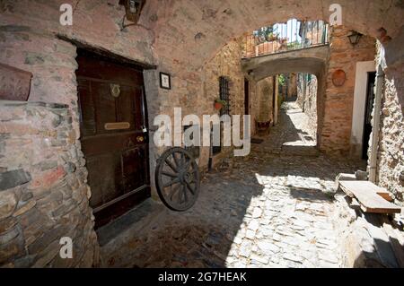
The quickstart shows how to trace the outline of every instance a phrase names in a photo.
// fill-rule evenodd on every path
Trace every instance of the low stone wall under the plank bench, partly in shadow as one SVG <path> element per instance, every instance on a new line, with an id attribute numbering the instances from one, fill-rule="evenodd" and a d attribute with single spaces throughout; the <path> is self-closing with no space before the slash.
<path id="1" fill-rule="evenodd" d="M 342 191 L 335 196 L 333 221 L 342 266 L 348 268 L 400 268 L 404 234 L 400 226 L 379 213 L 364 213 L 349 204 Z"/>

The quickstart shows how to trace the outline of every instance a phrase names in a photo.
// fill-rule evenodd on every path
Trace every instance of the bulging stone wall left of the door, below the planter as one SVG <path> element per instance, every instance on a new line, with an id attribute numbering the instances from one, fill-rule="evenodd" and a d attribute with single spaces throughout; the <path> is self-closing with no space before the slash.
<path id="1" fill-rule="evenodd" d="M 98 262 L 91 192 L 66 105 L 0 101 L 0 265 Z M 61 259 L 60 238 L 73 240 Z"/>

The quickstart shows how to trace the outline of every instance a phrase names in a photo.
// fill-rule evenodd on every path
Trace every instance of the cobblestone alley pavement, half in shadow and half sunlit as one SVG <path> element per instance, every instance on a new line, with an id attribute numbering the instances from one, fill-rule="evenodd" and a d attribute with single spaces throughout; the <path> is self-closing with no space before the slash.
<path id="1" fill-rule="evenodd" d="M 286 109 L 249 157 L 226 160 L 204 176 L 188 212 L 146 202 L 145 217 L 101 247 L 102 266 L 341 266 L 334 178 L 363 166 L 317 153 L 313 140 L 302 140 L 305 115 Z M 291 142 L 297 152 L 285 149 Z"/>

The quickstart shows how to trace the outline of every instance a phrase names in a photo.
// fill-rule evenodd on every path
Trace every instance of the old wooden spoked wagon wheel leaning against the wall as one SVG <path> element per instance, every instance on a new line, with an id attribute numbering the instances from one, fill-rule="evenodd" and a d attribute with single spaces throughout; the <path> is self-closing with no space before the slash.
<path id="1" fill-rule="evenodd" d="M 169 209 L 187 211 L 198 199 L 199 169 L 191 153 L 175 147 L 157 160 L 155 182 L 157 193 Z"/>

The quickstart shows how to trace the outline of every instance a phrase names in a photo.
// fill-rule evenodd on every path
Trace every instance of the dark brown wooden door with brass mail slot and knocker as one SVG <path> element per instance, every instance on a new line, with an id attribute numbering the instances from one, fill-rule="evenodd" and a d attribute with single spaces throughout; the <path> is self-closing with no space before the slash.
<path id="1" fill-rule="evenodd" d="M 81 143 L 96 228 L 150 196 L 143 73 L 79 50 Z"/>

